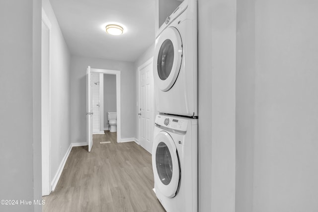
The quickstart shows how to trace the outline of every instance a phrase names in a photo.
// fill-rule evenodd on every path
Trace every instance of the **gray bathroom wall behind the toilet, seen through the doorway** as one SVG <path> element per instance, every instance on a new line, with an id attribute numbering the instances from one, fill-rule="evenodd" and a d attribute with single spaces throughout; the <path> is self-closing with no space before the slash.
<path id="1" fill-rule="evenodd" d="M 116 112 L 116 75 L 104 75 L 104 128 L 108 130 L 107 112 Z"/>

